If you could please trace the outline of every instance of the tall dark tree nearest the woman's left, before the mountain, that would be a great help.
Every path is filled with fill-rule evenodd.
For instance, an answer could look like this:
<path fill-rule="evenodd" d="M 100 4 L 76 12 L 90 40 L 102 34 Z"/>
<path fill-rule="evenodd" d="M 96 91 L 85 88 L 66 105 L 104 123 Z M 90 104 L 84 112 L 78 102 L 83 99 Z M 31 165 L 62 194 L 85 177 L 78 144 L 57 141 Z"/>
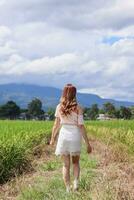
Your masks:
<path fill-rule="evenodd" d="M 40 99 L 35 98 L 28 104 L 28 114 L 39 117 L 44 111 L 42 110 L 42 102 Z"/>

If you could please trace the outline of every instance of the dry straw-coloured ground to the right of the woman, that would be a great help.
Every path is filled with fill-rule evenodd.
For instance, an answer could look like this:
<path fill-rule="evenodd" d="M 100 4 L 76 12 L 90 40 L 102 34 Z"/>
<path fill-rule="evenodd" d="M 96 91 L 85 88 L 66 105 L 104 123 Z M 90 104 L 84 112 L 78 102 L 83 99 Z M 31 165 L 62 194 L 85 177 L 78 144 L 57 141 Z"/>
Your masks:
<path fill-rule="evenodd" d="M 134 200 L 134 163 L 128 156 L 98 140 L 92 140 L 93 155 L 99 160 L 92 185 L 93 200 Z"/>

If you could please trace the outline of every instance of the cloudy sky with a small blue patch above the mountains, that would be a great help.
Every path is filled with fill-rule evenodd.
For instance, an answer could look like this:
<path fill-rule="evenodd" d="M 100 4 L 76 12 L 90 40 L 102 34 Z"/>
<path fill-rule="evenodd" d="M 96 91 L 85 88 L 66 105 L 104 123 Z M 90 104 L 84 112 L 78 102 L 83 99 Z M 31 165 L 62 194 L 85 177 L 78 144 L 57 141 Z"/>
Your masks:
<path fill-rule="evenodd" d="M 133 0 L 0 0 L 0 84 L 134 102 Z"/>

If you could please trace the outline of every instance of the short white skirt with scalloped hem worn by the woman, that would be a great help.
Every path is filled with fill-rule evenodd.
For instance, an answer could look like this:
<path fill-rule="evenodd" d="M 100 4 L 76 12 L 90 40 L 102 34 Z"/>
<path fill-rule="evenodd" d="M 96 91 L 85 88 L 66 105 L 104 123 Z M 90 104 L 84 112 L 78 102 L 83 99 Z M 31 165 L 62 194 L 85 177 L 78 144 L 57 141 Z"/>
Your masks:
<path fill-rule="evenodd" d="M 76 125 L 63 124 L 59 131 L 56 155 L 80 155 L 82 134 Z"/>

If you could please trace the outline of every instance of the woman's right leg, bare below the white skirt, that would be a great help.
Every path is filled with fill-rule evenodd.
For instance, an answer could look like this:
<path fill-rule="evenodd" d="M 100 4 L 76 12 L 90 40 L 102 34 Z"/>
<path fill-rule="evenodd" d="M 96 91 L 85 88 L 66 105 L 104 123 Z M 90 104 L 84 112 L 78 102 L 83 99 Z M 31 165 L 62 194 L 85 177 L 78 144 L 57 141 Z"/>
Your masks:
<path fill-rule="evenodd" d="M 80 175 L 80 156 L 72 156 L 72 163 L 73 163 L 73 174 L 74 174 L 74 190 L 78 188 L 78 180 Z"/>

